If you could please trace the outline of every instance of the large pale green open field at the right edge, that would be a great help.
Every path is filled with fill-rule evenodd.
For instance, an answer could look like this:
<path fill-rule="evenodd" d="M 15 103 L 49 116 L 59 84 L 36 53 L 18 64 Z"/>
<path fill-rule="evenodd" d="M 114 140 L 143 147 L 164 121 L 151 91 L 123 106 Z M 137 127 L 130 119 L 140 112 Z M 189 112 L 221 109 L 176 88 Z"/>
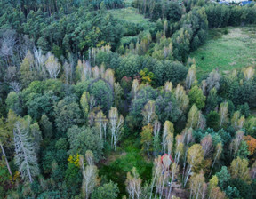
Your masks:
<path fill-rule="evenodd" d="M 202 76 L 219 68 L 228 73 L 234 68 L 256 64 L 256 27 L 219 28 L 209 31 L 204 45 L 190 54 L 196 60 L 197 73 Z"/>

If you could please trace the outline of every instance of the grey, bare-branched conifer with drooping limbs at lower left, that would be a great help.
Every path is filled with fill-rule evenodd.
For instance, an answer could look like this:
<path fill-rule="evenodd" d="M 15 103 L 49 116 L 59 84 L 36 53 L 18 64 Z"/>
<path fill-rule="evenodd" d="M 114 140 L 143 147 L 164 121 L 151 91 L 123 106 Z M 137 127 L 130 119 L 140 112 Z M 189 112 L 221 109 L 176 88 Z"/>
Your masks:
<path fill-rule="evenodd" d="M 35 144 L 29 136 L 28 127 L 24 123 L 17 122 L 13 129 L 15 156 L 14 163 L 19 167 L 21 177 L 33 182 L 39 175 Z"/>

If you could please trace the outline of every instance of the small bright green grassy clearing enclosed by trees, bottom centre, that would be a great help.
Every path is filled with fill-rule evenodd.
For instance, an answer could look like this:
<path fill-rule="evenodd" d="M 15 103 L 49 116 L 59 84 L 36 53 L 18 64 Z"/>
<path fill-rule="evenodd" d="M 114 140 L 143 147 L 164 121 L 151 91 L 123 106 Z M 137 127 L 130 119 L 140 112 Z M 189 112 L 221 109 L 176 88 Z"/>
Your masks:
<path fill-rule="evenodd" d="M 120 190 L 118 198 L 125 195 L 125 180 L 127 172 L 131 171 L 132 167 L 136 167 L 143 183 L 151 179 L 153 163 L 148 162 L 148 159 L 141 154 L 138 135 L 126 138 L 116 152 L 108 155 L 105 163 L 99 167 L 101 177 L 105 176 L 104 178 L 118 184 Z"/>

